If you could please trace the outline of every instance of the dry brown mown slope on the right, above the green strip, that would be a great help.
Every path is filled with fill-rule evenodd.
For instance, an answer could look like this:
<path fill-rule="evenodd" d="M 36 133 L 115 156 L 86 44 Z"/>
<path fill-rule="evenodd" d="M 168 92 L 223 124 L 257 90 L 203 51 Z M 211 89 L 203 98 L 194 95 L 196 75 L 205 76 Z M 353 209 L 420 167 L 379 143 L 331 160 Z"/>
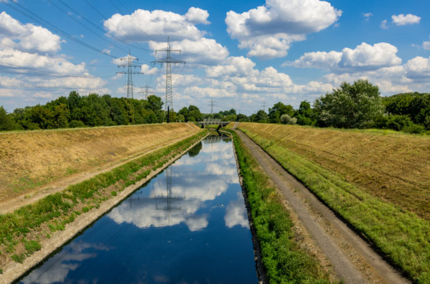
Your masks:
<path fill-rule="evenodd" d="M 368 193 L 430 220 L 429 136 L 264 123 L 239 127 L 251 138 L 258 135 L 288 148 Z"/>

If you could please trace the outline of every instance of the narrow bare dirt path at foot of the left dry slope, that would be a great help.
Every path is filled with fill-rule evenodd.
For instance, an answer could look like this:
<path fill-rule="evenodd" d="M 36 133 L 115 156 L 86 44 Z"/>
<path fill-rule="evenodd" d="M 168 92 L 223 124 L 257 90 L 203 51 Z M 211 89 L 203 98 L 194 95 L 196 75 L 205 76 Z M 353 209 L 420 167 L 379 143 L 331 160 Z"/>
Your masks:
<path fill-rule="evenodd" d="M 191 126 L 189 126 L 189 127 L 191 127 Z M 117 163 L 110 163 L 110 164 L 104 165 L 98 170 L 94 170 L 91 172 L 79 172 L 78 174 L 55 180 L 49 184 L 45 184 L 44 186 L 40 186 L 39 188 L 35 188 L 31 192 L 27 192 L 26 195 L 24 195 L 24 196 L 18 196 L 18 197 L 15 197 L 13 199 L 2 200 L 0 202 L 0 214 L 12 212 L 19 207 L 22 207 L 22 206 L 25 206 L 28 204 L 33 204 L 37 200 L 42 199 L 43 197 L 46 197 L 47 195 L 57 193 L 61 190 L 64 190 L 65 188 L 67 188 L 67 186 L 70 186 L 71 184 L 78 184 L 82 181 L 85 181 L 86 179 L 89 179 L 89 178 L 94 177 L 98 174 L 101 174 L 102 172 L 110 171 L 114 168 L 117 168 L 118 166 L 123 165 L 124 163 L 127 163 L 131 159 L 139 158 L 141 156 L 149 154 L 150 152 L 154 152 L 160 148 L 166 147 L 167 145 L 171 145 L 171 144 L 176 143 L 180 140 L 187 139 L 189 136 L 192 136 L 194 134 L 195 133 L 191 133 L 188 136 L 181 137 L 180 139 L 175 139 L 175 140 L 168 141 L 166 143 L 159 144 L 155 148 L 152 148 L 152 149 L 150 149 L 144 153 L 134 154 L 130 157 L 126 157 L 126 158 L 121 159 L 121 161 L 119 161 Z"/>

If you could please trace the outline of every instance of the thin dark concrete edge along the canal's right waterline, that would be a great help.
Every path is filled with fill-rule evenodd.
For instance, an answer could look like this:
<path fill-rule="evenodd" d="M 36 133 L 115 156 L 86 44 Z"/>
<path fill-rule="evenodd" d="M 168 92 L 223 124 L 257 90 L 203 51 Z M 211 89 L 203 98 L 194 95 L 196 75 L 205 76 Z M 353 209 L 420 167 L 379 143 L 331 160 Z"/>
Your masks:
<path fill-rule="evenodd" d="M 248 221 L 250 222 L 250 230 L 252 234 L 252 244 L 254 247 L 254 260 L 255 260 L 255 268 L 257 270 L 257 277 L 259 280 L 259 284 L 266 284 L 268 283 L 268 279 L 266 276 L 266 270 L 264 269 L 264 265 L 261 262 L 261 245 L 257 239 L 257 233 L 255 232 L 255 227 L 252 223 L 251 208 L 250 208 L 250 204 L 248 203 L 248 194 L 246 193 L 246 188 L 243 186 L 241 166 L 239 165 L 239 159 L 237 158 L 236 148 L 234 147 L 233 136 L 229 132 L 225 132 L 222 130 L 220 132 L 222 132 L 223 134 L 226 134 L 232 139 L 234 160 L 236 161 L 236 168 L 237 168 L 237 175 L 239 175 L 239 183 L 241 184 L 242 195 L 243 195 L 243 198 L 245 199 L 246 213 L 248 214 Z"/>

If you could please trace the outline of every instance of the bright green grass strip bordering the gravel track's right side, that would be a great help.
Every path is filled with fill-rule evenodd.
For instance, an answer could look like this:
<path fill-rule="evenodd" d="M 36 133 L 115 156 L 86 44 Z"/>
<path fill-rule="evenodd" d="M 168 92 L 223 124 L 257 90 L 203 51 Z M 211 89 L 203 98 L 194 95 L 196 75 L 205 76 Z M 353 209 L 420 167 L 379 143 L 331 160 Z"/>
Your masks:
<path fill-rule="evenodd" d="M 415 283 L 430 283 L 430 223 L 345 181 L 279 141 L 242 128 L 325 204 L 362 233 Z"/>

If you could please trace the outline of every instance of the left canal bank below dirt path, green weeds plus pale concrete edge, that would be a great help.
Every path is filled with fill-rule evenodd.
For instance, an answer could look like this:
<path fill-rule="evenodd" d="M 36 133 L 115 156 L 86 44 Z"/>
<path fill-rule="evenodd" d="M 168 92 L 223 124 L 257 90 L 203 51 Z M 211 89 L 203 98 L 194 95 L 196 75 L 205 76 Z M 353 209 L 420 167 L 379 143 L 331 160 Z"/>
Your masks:
<path fill-rule="evenodd" d="M 14 213 L 0 215 L 0 282 L 15 281 L 207 135 L 206 131 L 198 132 Z"/>

